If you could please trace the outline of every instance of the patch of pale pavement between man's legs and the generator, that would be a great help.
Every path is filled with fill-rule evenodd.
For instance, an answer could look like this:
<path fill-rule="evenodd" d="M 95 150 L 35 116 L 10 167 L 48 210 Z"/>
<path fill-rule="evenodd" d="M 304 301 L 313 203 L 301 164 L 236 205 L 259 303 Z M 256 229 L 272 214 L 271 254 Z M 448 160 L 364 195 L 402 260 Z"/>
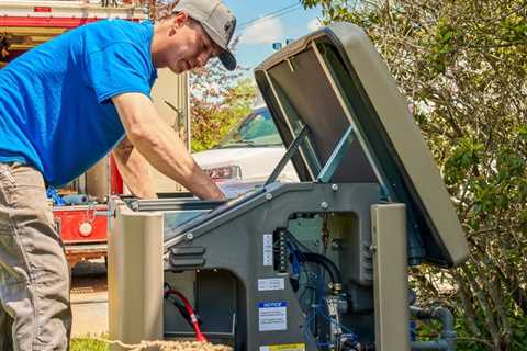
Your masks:
<path fill-rule="evenodd" d="M 104 261 L 77 263 L 71 279 L 71 337 L 108 333 L 108 285 Z"/>

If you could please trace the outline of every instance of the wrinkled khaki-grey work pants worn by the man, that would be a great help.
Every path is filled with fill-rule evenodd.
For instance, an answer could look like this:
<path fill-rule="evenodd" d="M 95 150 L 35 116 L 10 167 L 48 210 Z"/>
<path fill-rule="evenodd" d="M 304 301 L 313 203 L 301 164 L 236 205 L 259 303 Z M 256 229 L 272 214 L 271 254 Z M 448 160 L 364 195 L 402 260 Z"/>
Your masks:
<path fill-rule="evenodd" d="M 42 174 L 0 163 L 0 351 L 69 350 L 69 287 Z"/>

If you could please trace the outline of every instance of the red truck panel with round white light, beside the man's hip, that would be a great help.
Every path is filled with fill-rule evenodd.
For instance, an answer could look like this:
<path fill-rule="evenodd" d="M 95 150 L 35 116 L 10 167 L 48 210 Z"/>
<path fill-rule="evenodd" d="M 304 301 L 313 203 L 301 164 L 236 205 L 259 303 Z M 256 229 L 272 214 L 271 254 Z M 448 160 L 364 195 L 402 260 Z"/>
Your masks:
<path fill-rule="evenodd" d="M 104 242 L 108 239 L 106 205 L 54 207 L 53 216 L 65 244 Z"/>

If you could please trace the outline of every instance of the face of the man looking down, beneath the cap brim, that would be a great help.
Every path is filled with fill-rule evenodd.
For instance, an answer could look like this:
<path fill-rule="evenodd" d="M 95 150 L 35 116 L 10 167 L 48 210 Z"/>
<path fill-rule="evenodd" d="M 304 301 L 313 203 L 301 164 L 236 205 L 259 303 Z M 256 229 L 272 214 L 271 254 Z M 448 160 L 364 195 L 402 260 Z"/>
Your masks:
<path fill-rule="evenodd" d="M 168 39 L 166 60 L 170 70 L 181 73 L 197 67 L 203 67 L 206 61 L 220 54 L 220 48 L 214 44 L 203 27 L 190 19 L 173 30 L 173 35 Z"/>

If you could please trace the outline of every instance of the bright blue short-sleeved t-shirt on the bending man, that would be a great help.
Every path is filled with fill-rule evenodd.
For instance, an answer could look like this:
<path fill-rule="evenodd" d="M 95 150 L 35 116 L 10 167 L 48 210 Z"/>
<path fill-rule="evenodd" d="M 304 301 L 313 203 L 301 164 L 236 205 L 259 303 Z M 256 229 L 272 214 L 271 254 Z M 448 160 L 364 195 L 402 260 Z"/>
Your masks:
<path fill-rule="evenodd" d="M 147 97 L 157 78 L 152 22 L 83 25 L 25 53 L 0 70 L 0 162 L 38 169 L 65 184 L 124 136 L 111 98 Z"/>

